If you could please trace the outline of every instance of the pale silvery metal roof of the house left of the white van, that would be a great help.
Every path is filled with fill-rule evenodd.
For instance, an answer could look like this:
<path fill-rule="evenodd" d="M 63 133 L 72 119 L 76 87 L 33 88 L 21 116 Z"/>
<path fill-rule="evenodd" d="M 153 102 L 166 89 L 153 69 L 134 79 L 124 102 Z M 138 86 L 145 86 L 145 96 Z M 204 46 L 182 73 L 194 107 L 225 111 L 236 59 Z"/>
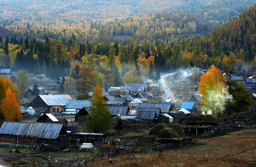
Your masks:
<path fill-rule="evenodd" d="M 68 100 L 63 96 L 55 95 L 38 95 L 46 103 L 46 105 L 66 105 Z"/>

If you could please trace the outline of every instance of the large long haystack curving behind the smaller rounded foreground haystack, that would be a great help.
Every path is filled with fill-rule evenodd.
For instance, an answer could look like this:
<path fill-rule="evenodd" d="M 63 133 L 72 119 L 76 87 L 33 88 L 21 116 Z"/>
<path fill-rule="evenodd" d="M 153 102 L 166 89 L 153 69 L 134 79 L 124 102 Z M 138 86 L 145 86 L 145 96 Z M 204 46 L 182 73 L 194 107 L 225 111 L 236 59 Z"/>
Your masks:
<path fill-rule="evenodd" d="M 161 123 L 156 126 L 154 126 L 148 133 L 149 136 L 156 136 L 159 134 L 160 131 L 166 128 L 172 128 L 174 129 L 180 137 L 184 137 L 185 132 L 180 124 L 166 124 L 166 123 Z"/>

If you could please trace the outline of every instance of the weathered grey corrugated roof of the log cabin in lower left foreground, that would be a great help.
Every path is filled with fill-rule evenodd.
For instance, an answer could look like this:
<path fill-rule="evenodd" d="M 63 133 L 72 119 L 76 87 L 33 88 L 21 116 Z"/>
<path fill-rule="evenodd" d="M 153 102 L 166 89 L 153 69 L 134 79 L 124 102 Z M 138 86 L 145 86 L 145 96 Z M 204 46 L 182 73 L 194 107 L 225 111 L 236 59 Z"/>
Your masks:
<path fill-rule="evenodd" d="M 58 123 L 4 122 L 0 128 L 0 134 L 56 139 L 62 127 L 64 125 Z"/>

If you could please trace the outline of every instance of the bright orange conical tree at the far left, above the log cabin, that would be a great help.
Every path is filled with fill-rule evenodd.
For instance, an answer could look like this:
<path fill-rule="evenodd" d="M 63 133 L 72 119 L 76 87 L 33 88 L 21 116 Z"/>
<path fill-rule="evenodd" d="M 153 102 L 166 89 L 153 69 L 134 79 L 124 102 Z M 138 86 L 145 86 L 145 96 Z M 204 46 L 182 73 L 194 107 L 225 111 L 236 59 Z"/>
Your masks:
<path fill-rule="evenodd" d="M 4 121 L 22 121 L 20 105 L 16 101 L 15 93 L 12 93 L 10 88 L 6 91 L 6 97 L 1 101 L 1 110 L 3 112 Z"/>

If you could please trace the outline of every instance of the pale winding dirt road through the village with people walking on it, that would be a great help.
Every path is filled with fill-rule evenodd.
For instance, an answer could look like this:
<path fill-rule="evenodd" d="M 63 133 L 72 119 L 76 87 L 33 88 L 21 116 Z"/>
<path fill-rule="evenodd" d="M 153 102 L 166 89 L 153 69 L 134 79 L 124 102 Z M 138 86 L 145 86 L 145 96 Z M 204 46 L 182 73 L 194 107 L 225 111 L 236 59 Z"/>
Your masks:
<path fill-rule="evenodd" d="M 164 94 L 162 96 L 162 99 L 165 100 L 166 98 L 173 98 L 174 97 L 174 93 L 171 91 L 171 87 L 169 88 L 169 86 L 171 85 L 166 85 L 165 80 L 166 77 L 169 77 L 169 75 L 174 75 L 174 73 L 168 73 L 168 74 L 163 74 L 161 75 L 160 80 L 158 81 L 160 88 L 164 91 Z M 166 89 L 167 86 L 167 89 Z"/>

